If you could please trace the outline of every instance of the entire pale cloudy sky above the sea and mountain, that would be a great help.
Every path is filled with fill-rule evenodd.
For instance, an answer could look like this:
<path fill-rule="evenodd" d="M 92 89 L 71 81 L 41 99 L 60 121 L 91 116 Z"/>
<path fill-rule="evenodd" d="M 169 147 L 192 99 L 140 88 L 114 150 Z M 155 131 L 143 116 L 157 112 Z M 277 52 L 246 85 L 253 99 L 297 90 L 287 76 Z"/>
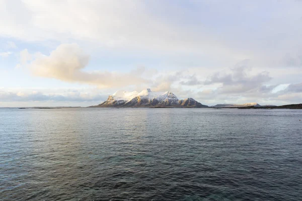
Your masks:
<path fill-rule="evenodd" d="M 0 0 L 0 107 L 92 106 L 117 90 L 302 103 L 300 0 Z"/>

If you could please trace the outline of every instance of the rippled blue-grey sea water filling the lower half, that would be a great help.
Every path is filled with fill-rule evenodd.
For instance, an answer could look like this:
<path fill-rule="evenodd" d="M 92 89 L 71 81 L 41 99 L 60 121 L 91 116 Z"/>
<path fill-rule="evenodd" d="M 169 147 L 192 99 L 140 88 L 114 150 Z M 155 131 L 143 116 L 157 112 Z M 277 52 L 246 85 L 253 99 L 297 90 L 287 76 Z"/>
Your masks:
<path fill-rule="evenodd" d="M 17 199 L 302 200 L 302 110 L 0 109 Z"/>

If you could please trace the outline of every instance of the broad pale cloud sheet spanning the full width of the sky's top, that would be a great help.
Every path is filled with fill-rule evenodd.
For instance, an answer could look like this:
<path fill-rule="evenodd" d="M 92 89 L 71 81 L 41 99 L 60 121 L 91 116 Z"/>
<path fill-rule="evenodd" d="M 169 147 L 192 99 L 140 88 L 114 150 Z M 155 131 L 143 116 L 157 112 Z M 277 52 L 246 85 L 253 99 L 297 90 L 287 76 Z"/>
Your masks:
<path fill-rule="evenodd" d="M 2 0 L 0 18 L 6 20 L 0 21 L 0 36 L 172 54 L 187 63 L 186 56 L 194 55 L 199 63 L 251 58 L 261 66 L 284 67 L 300 65 L 300 11 L 295 1 Z M 286 54 L 288 61 L 277 59 Z"/>

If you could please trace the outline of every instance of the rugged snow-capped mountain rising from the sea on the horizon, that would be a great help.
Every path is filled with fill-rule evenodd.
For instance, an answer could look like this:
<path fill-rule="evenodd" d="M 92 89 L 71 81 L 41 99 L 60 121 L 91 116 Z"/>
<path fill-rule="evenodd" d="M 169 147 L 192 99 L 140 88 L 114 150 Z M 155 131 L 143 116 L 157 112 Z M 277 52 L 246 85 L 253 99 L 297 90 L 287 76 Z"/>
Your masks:
<path fill-rule="evenodd" d="M 154 92 L 147 88 L 140 92 L 116 91 L 109 95 L 104 103 L 92 107 L 206 108 L 208 106 L 202 105 L 191 97 L 179 100 L 170 91 Z"/>

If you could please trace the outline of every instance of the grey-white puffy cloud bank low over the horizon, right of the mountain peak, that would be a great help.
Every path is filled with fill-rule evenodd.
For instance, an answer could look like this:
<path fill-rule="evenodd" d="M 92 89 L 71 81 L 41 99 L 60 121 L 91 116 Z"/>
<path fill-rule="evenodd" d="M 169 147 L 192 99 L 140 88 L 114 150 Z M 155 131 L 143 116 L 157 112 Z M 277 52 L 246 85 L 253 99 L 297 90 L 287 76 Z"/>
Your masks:
<path fill-rule="evenodd" d="M 181 97 L 191 96 L 206 105 L 246 102 L 278 105 L 283 102 L 278 99 L 281 93 L 273 93 L 280 84 L 270 84 L 273 79 L 270 73 L 253 68 L 248 60 L 237 63 L 233 68 L 221 68 L 207 77 L 202 76 L 206 76 L 202 70 L 192 75 L 181 73 L 176 79 L 181 80 L 179 83 L 183 87 L 176 88 L 172 84 L 170 88 Z M 186 89 L 188 86 L 190 90 Z"/>

